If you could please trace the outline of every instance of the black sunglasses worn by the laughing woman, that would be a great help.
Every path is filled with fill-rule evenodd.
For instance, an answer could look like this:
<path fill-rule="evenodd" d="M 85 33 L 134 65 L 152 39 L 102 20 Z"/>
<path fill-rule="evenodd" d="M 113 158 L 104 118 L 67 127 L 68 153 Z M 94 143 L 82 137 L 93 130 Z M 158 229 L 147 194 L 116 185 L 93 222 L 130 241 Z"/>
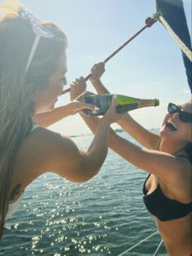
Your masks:
<path fill-rule="evenodd" d="M 168 104 L 168 113 L 173 115 L 175 113 L 179 114 L 179 120 L 182 122 L 191 122 L 192 123 L 192 114 L 182 111 L 176 104 Z"/>

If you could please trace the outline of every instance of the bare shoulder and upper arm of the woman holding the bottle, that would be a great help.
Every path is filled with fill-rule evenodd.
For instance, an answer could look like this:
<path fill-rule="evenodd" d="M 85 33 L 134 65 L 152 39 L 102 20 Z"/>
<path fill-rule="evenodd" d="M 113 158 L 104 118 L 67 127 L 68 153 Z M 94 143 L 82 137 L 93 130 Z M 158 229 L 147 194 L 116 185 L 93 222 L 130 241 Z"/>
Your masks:
<path fill-rule="evenodd" d="M 24 188 L 46 172 L 71 179 L 70 171 L 80 164 L 81 152 L 72 139 L 39 127 L 21 144 L 15 157 L 13 178 Z"/>

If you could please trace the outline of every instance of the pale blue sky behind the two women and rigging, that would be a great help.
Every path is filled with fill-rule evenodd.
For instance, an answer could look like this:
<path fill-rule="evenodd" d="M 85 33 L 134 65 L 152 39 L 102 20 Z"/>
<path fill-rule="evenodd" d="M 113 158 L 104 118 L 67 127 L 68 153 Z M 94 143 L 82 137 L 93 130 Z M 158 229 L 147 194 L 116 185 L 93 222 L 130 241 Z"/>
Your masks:
<path fill-rule="evenodd" d="M 154 0 L 23 0 L 40 20 L 51 20 L 68 36 L 68 85 L 86 76 L 93 64 L 104 60 L 133 36 L 155 13 Z M 191 31 L 191 1 L 184 0 Z M 146 128 L 159 127 L 168 102 L 190 99 L 181 52 L 159 22 L 146 29 L 106 64 L 103 83 L 111 93 L 160 100 L 158 108 L 131 113 Z M 88 82 L 88 90 L 93 86 Z M 59 99 L 67 104 L 69 95 Z M 89 132 L 81 118 L 67 117 L 51 126 L 74 135 Z"/>

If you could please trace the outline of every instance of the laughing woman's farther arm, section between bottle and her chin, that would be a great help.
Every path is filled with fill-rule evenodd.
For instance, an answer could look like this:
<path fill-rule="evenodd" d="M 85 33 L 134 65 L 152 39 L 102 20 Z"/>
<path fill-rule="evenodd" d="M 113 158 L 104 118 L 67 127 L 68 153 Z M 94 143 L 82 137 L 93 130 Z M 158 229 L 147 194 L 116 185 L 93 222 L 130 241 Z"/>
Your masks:
<path fill-rule="evenodd" d="M 149 149 L 159 150 L 160 137 L 155 135 L 149 130 L 146 130 L 143 126 L 139 125 L 128 113 L 118 121 L 118 124 L 129 135 L 136 139 L 138 143 L 141 143 L 144 147 Z"/>

